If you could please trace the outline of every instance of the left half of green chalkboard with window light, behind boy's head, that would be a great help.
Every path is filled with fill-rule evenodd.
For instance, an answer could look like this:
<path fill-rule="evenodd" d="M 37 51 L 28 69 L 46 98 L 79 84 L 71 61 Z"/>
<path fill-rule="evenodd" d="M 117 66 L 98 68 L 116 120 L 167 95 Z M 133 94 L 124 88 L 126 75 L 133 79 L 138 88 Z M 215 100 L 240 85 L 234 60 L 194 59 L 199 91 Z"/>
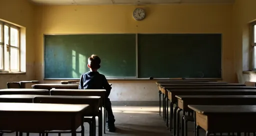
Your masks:
<path fill-rule="evenodd" d="M 44 35 L 44 78 L 79 78 L 91 54 L 107 78 L 136 77 L 135 34 Z"/>

